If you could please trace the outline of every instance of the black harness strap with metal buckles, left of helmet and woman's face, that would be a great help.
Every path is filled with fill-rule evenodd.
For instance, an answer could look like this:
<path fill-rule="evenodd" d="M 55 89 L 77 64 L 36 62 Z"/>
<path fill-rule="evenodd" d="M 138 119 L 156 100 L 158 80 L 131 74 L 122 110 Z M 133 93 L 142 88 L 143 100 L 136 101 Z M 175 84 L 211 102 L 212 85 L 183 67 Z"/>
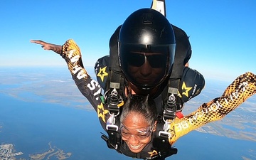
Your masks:
<path fill-rule="evenodd" d="M 106 126 L 107 134 L 102 135 L 102 139 L 107 142 L 110 149 L 115 149 L 120 153 L 121 135 L 119 134 L 118 116 L 122 112 L 124 100 L 122 98 L 124 92 L 124 76 L 118 61 L 118 36 L 121 26 L 119 26 L 110 38 L 110 65 L 109 75 L 107 76 L 107 84 L 105 91 L 105 101 L 111 114 L 110 122 Z M 116 119 L 117 118 L 117 119 Z"/>

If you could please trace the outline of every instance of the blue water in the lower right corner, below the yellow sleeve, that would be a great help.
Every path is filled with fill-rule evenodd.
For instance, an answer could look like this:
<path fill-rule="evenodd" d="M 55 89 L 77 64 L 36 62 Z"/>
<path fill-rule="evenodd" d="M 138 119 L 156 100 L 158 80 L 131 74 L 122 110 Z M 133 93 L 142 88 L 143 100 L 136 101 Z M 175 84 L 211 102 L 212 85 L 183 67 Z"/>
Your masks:
<path fill-rule="evenodd" d="M 256 159 L 255 144 L 252 141 L 193 131 L 178 139 L 175 144 L 178 154 L 169 159 Z"/>

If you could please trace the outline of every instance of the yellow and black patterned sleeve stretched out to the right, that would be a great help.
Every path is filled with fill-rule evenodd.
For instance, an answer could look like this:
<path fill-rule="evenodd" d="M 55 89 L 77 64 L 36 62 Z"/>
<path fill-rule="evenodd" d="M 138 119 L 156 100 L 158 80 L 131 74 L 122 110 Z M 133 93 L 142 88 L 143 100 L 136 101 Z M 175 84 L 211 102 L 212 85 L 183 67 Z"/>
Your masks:
<path fill-rule="evenodd" d="M 255 93 L 256 75 L 250 72 L 240 75 L 227 87 L 221 97 L 204 103 L 196 112 L 186 117 L 181 119 L 176 117 L 174 122 L 169 124 L 169 132 L 172 136 L 169 139 L 170 144 L 174 144 L 178 138 L 204 124 L 222 119 Z"/>

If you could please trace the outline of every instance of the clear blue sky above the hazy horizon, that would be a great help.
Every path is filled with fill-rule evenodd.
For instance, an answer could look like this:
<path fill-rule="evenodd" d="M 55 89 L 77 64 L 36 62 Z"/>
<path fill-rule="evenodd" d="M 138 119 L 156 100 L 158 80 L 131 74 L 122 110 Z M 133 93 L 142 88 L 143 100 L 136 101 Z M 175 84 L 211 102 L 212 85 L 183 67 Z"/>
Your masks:
<path fill-rule="evenodd" d="M 133 11 L 151 0 L 1 0 L 0 66 L 63 65 L 65 61 L 41 46 L 41 39 L 62 45 L 73 38 L 85 66 L 109 53 L 114 30 Z M 256 73 L 255 0 L 166 0 L 170 23 L 190 36 L 190 67 L 206 78 L 233 80 Z"/>

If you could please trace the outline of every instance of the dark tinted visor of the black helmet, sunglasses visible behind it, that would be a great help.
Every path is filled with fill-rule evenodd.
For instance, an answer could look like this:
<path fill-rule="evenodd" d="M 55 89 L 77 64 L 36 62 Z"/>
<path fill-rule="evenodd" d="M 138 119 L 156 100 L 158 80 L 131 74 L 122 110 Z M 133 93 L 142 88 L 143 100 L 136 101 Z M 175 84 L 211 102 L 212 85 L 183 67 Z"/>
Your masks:
<path fill-rule="evenodd" d="M 159 85 L 168 74 L 170 52 L 174 47 L 175 45 L 120 44 L 120 64 L 127 80 L 143 89 Z"/>

